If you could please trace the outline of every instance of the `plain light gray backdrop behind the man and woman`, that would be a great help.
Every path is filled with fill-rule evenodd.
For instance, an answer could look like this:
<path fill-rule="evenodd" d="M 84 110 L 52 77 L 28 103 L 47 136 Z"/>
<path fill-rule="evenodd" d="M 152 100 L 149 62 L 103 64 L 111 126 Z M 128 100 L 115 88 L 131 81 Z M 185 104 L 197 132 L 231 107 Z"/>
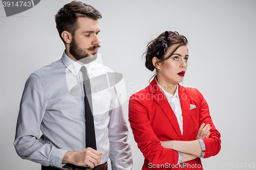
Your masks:
<path fill-rule="evenodd" d="M 5 16 L 0 5 L 1 169 L 40 169 L 39 164 L 22 160 L 15 152 L 16 119 L 29 75 L 58 60 L 65 49 L 54 15 L 69 2 L 44 0 L 11 17 Z M 203 159 L 204 169 L 252 168 L 256 163 L 256 1 L 83 2 L 103 16 L 99 20 L 99 53 L 104 65 L 123 74 L 128 98 L 147 86 L 154 75 L 141 59 L 146 42 L 166 30 L 185 35 L 189 41 L 189 66 L 183 84 L 202 92 L 222 135 L 220 153 Z M 127 105 L 126 100 L 126 120 Z M 141 169 L 143 156 L 129 130 L 134 169 Z"/>

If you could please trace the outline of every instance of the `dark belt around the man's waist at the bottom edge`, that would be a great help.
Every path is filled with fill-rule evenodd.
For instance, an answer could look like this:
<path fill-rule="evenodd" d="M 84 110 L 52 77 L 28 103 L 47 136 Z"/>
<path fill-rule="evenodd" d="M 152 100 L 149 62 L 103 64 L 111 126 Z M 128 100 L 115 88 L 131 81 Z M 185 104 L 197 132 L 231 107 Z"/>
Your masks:
<path fill-rule="evenodd" d="M 43 168 L 45 167 L 45 168 Z M 46 168 L 47 166 L 42 166 L 42 169 L 47 169 Z M 105 162 L 101 165 L 98 165 L 99 169 L 100 170 L 105 170 L 107 167 L 108 167 L 108 163 Z M 51 169 L 56 169 L 56 170 L 59 170 L 59 169 L 63 169 L 63 170 L 83 170 L 83 169 L 86 169 L 86 170 L 98 170 L 97 167 L 94 167 L 94 168 L 90 168 L 89 166 L 88 167 L 85 167 L 85 166 L 76 166 L 74 164 L 71 164 L 71 163 L 67 163 L 66 165 L 64 165 L 63 167 L 56 167 L 56 166 L 50 166 Z"/>

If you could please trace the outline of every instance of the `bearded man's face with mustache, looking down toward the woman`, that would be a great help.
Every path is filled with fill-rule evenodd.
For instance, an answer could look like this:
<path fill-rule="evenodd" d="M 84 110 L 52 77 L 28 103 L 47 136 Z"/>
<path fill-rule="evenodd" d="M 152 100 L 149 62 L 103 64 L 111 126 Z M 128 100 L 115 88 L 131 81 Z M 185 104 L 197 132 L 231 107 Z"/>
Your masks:
<path fill-rule="evenodd" d="M 77 23 L 78 29 L 72 37 L 69 52 L 76 60 L 88 59 L 83 62 L 92 62 L 97 58 L 96 54 L 100 47 L 98 20 L 79 17 Z"/>

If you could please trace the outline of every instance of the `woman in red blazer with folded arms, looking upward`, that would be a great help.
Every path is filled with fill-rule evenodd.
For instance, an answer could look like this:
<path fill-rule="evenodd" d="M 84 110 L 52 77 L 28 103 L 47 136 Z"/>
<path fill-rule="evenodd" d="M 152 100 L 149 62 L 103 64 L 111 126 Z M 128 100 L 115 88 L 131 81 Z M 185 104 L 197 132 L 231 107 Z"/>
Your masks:
<path fill-rule="evenodd" d="M 156 76 L 129 102 L 129 122 L 145 157 L 142 169 L 203 169 L 200 157 L 221 149 L 203 95 L 179 85 L 187 69 L 186 45 L 186 37 L 170 31 L 147 45 L 145 66 L 156 69 Z"/>

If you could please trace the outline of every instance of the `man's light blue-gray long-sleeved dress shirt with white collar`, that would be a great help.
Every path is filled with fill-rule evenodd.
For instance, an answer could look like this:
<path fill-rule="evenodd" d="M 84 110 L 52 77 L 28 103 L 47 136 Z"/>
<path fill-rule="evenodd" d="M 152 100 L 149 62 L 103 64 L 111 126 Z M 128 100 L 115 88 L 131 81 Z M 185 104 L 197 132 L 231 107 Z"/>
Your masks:
<path fill-rule="evenodd" d="M 84 64 L 89 78 L 113 72 L 96 62 Z M 62 167 L 68 151 L 86 148 L 81 64 L 65 52 L 62 58 L 33 72 L 28 78 L 17 119 L 14 146 L 17 154 L 45 166 Z M 70 94 L 80 84 L 79 95 Z M 93 87 L 92 87 L 93 88 Z M 101 163 L 111 159 L 112 169 L 132 169 L 128 129 L 118 102 L 118 87 L 92 94 L 97 150 Z M 40 131 L 42 136 L 40 137 Z M 100 163 L 100 164 L 101 164 Z"/>

